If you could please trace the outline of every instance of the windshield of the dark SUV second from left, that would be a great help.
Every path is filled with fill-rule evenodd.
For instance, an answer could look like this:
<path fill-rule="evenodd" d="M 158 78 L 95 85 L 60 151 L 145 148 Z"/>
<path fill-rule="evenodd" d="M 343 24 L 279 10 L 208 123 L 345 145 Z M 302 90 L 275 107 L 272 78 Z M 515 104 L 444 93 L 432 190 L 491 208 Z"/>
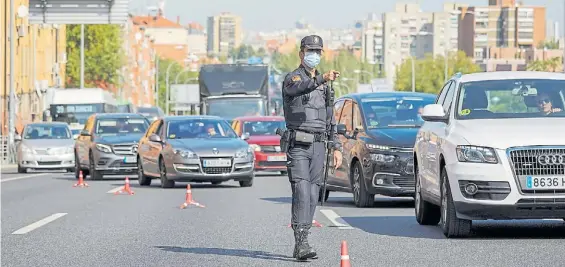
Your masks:
<path fill-rule="evenodd" d="M 148 126 L 143 118 L 103 118 L 96 122 L 96 134 L 141 134 L 145 133 Z"/>

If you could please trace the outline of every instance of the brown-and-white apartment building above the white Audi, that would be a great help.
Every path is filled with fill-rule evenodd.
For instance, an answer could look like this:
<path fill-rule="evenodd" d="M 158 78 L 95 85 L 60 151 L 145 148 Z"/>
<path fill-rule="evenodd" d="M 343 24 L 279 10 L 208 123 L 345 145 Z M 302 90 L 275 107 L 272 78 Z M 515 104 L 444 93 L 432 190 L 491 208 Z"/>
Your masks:
<path fill-rule="evenodd" d="M 459 50 L 475 60 L 486 58 L 490 47 L 529 49 L 546 39 L 545 7 L 490 0 L 459 10 Z"/>

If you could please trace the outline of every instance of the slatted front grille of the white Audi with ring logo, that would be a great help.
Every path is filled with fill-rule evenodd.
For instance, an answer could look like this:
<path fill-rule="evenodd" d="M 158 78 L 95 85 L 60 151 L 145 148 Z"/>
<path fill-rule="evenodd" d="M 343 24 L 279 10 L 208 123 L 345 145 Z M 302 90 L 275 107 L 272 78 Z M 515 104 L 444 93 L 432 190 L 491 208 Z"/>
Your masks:
<path fill-rule="evenodd" d="M 524 193 L 534 194 L 554 194 L 565 193 L 565 190 L 528 190 L 525 189 L 526 176 L 562 176 L 565 175 L 565 164 L 541 164 L 539 156 L 549 155 L 565 157 L 565 148 L 513 148 L 508 150 L 510 164 L 513 167 L 514 175 L 520 184 L 520 190 Z M 565 161 L 565 159 L 563 159 Z M 562 161 L 562 162 L 563 162 Z"/>

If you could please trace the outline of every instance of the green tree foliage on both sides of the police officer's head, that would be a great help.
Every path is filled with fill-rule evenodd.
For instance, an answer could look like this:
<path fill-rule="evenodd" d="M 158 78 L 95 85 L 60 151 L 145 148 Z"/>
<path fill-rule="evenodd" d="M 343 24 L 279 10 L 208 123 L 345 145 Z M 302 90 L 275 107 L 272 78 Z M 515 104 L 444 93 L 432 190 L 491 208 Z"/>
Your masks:
<path fill-rule="evenodd" d="M 300 65 L 299 51 L 300 47 L 297 45 L 294 51 L 288 54 L 278 52 L 273 54 L 272 62 L 276 70 L 282 72 L 283 77 Z M 352 91 L 357 90 L 358 83 L 369 83 L 371 79 L 384 77 L 382 72 L 379 75 L 378 65 L 362 62 L 347 50 L 337 51 L 337 55 L 332 59 L 323 56 L 317 69 L 322 72 L 332 69 L 341 72 L 341 76 L 337 80 L 338 83 L 335 85 L 337 96 L 340 96 L 340 93 L 352 93 Z M 356 72 L 355 70 L 360 71 Z"/>

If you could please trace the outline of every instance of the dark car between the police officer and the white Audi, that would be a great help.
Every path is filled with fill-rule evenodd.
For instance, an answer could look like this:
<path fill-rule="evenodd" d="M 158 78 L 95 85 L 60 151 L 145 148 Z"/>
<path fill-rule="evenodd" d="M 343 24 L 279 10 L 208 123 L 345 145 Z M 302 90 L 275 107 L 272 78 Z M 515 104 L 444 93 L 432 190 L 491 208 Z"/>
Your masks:
<path fill-rule="evenodd" d="M 335 102 L 343 162 L 328 174 L 330 191 L 352 192 L 357 207 L 371 207 L 375 194 L 414 196 L 413 148 L 423 107 L 435 95 L 408 92 L 358 93 Z"/>

